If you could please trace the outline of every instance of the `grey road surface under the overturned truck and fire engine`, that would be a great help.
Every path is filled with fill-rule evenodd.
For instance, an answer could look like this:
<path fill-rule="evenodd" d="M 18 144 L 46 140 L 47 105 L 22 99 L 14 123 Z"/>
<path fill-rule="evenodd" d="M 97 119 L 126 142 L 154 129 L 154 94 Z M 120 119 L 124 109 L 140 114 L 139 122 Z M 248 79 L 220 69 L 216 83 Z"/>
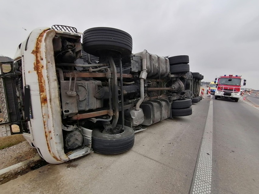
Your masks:
<path fill-rule="evenodd" d="M 126 153 L 46 165 L 0 185 L 1 193 L 258 193 L 259 110 L 207 95 L 192 109 L 137 133 Z"/>

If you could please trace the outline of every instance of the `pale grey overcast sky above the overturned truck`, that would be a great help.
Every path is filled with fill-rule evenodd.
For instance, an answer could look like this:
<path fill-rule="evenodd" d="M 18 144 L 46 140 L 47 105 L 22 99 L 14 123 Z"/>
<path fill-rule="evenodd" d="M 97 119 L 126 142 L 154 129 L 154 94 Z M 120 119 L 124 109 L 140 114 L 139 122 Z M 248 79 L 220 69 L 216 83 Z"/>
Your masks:
<path fill-rule="evenodd" d="M 74 26 L 79 32 L 113 27 L 132 36 L 133 53 L 189 55 L 191 71 L 204 75 L 203 81 L 238 74 L 246 87 L 259 89 L 258 8 L 258 0 L 2 0 L 0 55 L 13 58 L 41 26 Z"/>

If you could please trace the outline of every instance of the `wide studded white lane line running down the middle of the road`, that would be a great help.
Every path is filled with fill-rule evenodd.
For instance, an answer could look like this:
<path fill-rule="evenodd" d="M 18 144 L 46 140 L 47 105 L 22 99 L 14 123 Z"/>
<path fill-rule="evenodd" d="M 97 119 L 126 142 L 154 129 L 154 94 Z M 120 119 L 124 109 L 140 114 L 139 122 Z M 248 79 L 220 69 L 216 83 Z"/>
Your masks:
<path fill-rule="evenodd" d="M 202 145 L 196 164 L 196 174 L 193 186 L 193 194 L 211 193 L 212 173 L 212 123 L 213 122 L 213 100 L 210 98 L 209 112 L 205 124 Z"/>

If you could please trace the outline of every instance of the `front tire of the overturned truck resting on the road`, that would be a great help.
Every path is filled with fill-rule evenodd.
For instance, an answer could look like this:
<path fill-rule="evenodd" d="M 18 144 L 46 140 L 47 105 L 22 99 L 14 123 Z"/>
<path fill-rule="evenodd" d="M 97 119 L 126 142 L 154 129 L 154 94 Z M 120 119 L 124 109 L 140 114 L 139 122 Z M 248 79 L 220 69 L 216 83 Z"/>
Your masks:
<path fill-rule="evenodd" d="M 133 147 L 134 139 L 134 130 L 127 126 L 124 126 L 122 133 L 115 135 L 103 134 L 99 130 L 93 130 L 92 148 L 99 154 L 120 154 Z"/>

